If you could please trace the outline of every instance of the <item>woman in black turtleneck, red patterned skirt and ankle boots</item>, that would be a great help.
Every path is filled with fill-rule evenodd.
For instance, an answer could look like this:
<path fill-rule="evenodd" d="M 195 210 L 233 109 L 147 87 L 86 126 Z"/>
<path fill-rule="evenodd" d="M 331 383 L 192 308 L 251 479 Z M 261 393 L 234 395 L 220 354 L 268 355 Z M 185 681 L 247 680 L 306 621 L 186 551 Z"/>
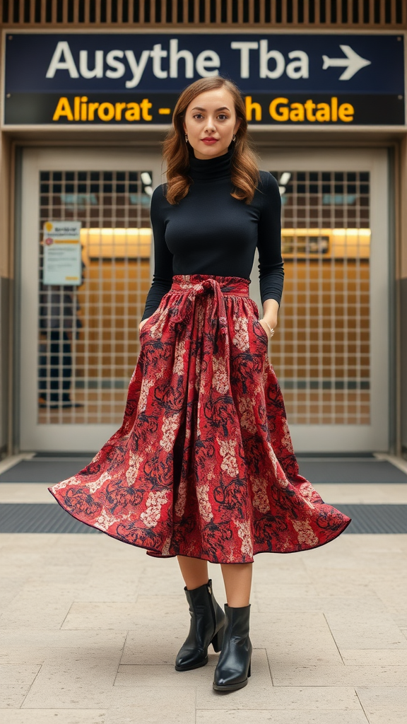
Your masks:
<path fill-rule="evenodd" d="M 155 271 L 122 427 L 87 468 L 50 490 L 65 510 L 148 555 L 177 555 L 190 608 L 178 671 L 220 651 L 214 689 L 251 675 L 253 555 L 314 548 L 350 519 L 298 474 L 267 355 L 283 282 L 280 193 L 248 147 L 238 88 L 185 88 L 154 191 Z M 248 295 L 259 248 L 264 316 Z M 207 562 L 219 563 L 219 607 Z"/>

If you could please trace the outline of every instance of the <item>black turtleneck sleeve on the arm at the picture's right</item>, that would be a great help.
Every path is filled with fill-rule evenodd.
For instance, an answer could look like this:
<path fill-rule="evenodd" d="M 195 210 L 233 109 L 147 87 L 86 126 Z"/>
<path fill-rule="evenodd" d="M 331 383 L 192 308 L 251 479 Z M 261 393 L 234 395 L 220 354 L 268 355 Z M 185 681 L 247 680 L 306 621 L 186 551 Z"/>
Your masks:
<path fill-rule="evenodd" d="M 277 181 L 262 172 L 261 215 L 258 227 L 259 279 L 261 303 L 275 299 L 280 304 L 284 284 L 281 256 L 281 197 Z"/>

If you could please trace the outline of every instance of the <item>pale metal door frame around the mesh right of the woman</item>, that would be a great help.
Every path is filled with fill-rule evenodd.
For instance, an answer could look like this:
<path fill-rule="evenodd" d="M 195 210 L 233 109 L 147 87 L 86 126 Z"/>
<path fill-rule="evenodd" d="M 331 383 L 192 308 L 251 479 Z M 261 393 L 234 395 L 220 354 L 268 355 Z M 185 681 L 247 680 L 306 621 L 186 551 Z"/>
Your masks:
<path fill-rule="evenodd" d="M 370 173 L 370 425 L 288 424 L 295 452 L 387 452 L 390 434 L 390 229 L 386 148 L 261 148 L 261 168 L 274 171 Z M 284 304 L 284 292 L 282 305 Z M 374 323 L 373 323 L 374 320 Z M 271 355 L 272 362 L 272 355 Z M 316 444 L 317 441 L 317 444 Z"/>

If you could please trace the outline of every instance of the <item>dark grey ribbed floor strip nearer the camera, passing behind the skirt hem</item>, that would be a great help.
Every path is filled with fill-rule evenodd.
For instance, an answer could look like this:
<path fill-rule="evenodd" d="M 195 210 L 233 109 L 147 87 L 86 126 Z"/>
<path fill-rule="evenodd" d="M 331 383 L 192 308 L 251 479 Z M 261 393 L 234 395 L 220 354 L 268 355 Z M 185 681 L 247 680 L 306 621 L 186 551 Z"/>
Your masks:
<path fill-rule="evenodd" d="M 344 534 L 407 533 L 407 505 L 332 503 L 352 518 Z M 52 503 L 0 505 L 0 533 L 98 533 Z"/>

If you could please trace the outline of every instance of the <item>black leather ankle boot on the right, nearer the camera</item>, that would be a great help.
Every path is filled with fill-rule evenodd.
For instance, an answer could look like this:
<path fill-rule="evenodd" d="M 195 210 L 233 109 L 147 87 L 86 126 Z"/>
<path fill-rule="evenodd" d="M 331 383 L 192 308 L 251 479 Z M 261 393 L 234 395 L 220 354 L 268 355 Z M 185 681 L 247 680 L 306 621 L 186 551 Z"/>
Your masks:
<path fill-rule="evenodd" d="M 251 675 L 253 647 L 248 636 L 250 604 L 242 608 L 225 605 L 226 626 L 222 652 L 214 675 L 214 689 L 235 691 L 243 689 Z"/>

